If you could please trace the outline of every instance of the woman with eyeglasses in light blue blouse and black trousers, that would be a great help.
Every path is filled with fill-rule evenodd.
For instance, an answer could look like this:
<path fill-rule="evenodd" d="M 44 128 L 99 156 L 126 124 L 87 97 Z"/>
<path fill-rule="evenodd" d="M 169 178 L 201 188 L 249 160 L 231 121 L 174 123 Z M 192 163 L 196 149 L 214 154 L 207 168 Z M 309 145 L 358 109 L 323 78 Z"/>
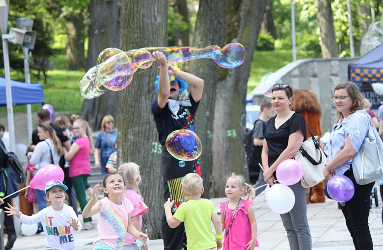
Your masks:
<path fill-rule="evenodd" d="M 364 100 L 354 82 L 343 82 L 334 89 L 332 97 L 338 122 L 332 127 L 325 153 L 328 155 L 323 175 L 329 180 L 333 175 L 349 177 L 355 186 L 351 200 L 341 203 L 347 228 L 356 250 L 372 250 L 373 243 L 368 226 L 371 190 L 375 182 L 356 183 L 353 174 L 353 157 L 360 149 L 370 127 L 370 118 L 363 109 Z"/>

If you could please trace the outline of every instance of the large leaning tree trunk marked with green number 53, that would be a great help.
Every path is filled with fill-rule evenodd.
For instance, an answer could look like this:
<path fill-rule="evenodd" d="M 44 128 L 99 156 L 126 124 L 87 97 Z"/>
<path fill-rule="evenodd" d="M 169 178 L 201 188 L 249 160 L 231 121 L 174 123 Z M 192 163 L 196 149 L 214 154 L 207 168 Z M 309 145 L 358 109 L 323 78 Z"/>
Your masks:
<path fill-rule="evenodd" d="M 211 194 L 224 196 L 222 180 L 230 172 L 242 174 L 248 179 L 245 168 L 243 137 L 246 131 L 245 115 L 247 80 L 253 53 L 261 28 L 267 0 L 230 1 L 225 34 L 226 43 L 239 41 L 246 48 L 246 58 L 234 70 L 220 70 L 217 88 L 214 137 L 213 183 Z"/>

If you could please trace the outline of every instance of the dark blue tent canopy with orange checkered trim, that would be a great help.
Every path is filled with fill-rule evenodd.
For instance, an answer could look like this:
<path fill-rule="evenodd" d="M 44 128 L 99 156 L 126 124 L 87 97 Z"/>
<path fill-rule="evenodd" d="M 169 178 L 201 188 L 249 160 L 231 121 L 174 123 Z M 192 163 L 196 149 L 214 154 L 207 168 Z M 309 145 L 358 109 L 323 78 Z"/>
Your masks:
<path fill-rule="evenodd" d="M 353 82 L 383 82 L 383 44 L 359 57 L 348 67 Z"/>

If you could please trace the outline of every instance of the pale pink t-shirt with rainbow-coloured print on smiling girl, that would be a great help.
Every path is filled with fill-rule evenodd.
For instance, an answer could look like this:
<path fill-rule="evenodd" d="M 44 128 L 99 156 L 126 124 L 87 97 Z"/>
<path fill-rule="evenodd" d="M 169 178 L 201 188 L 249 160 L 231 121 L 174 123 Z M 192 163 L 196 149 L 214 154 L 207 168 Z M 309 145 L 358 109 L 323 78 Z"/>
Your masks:
<path fill-rule="evenodd" d="M 133 210 L 132 203 L 123 198 L 121 205 L 113 203 L 108 197 L 101 201 L 101 209 L 97 222 L 98 237 L 93 242 L 104 242 L 112 249 L 122 249 L 128 230 L 128 216 Z"/>

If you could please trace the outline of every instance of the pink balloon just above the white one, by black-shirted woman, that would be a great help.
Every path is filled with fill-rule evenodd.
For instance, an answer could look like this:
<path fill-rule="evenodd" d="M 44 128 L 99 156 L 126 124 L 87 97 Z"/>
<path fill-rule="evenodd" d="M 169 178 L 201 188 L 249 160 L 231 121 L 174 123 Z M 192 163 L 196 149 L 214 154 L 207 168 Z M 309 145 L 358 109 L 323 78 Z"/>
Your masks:
<path fill-rule="evenodd" d="M 301 164 L 294 159 L 282 161 L 276 168 L 276 179 L 283 185 L 294 185 L 301 180 L 303 168 Z"/>

